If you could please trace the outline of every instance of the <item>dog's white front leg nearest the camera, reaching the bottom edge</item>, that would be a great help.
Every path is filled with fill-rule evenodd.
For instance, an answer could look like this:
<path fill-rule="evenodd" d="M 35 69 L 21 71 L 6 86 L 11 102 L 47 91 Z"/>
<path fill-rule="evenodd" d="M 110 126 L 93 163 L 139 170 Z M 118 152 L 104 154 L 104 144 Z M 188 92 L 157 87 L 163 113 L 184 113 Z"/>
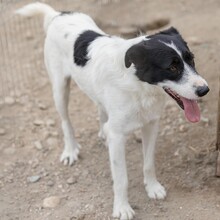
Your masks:
<path fill-rule="evenodd" d="M 125 136 L 112 132 L 105 126 L 114 189 L 113 217 L 121 220 L 133 219 L 134 211 L 128 203 L 128 177 L 125 161 Z"/>

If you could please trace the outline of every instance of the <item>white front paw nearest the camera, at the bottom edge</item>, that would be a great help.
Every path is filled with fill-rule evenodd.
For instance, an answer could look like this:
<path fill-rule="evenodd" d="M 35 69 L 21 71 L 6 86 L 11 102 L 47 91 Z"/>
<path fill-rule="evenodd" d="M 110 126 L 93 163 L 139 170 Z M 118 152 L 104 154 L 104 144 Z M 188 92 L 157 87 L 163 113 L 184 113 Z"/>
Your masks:
<path fill-rule="evenodd" d="M 134 215 L 135 212 L 129 204 L 117 206 L 114 208 L 114 212 L 113 212 L 113 218 L 120 220 L 133 219 Z"/>

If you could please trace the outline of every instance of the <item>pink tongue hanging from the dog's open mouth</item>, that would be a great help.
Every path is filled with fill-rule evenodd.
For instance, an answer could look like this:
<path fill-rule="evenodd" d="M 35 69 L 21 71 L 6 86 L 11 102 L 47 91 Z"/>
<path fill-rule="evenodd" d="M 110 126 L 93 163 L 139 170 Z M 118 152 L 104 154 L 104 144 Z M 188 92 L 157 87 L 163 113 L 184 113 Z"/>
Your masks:
<path fill-rule="evenodd" d="M 200 121 L 200 111 L 197 102 L 183 97 L 181 97 L 181 100 L 184 105 L 186 118 L 193 123 Z"/>

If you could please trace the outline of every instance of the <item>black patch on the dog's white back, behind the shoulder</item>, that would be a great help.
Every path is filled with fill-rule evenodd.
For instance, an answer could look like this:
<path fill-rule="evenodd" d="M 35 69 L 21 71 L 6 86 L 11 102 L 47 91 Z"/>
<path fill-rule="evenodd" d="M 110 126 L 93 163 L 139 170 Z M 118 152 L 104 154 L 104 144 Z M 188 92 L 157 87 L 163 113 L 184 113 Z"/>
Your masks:
<path fill-rule="evenodd" d="M 87 57 L 88 54 L 88 47 L 89 45 L 98 37 L 103 35 L 96 33 L 94 31 L 85 31 L 79 35 L 76 39 L 74 44 L 74 62 L 78 66 L 85 66 L 89 58 Z"/>

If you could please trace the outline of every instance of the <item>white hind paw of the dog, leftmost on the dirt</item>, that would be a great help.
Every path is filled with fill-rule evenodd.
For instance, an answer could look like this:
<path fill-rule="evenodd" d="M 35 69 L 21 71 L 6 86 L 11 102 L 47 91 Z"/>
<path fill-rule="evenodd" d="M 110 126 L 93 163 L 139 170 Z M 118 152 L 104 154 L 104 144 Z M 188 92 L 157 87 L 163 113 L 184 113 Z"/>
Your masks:
<path fill-rule="evenodd" d="M 64 149 L 63 153 L 60 156 L 60 162 L 66 165 L 73 165 L 73 163 L 78 160 L 79 155 L 79 147 L 77 148 L 71 148 L 71 149 Z"/>

